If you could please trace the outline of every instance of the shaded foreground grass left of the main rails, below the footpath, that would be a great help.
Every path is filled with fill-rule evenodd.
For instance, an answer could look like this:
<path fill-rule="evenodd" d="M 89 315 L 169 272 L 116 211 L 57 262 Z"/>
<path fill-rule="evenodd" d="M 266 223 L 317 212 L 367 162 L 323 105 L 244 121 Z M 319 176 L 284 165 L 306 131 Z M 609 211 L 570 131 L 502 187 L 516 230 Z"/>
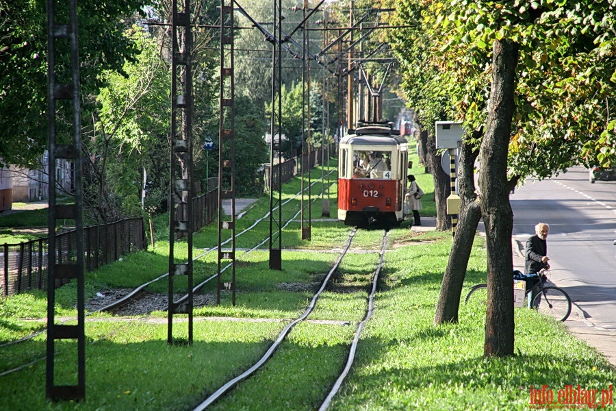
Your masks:
<path fill-rule="evenodd" d="M 186 410 L 201 398 L 203 390 L 214 390 L 238 370 L 251 366 L 280 327 L 280 323 L 254 323 L 247 329 L 246 323 L 201 322 L 195 327 L 192 347 L 169 347 L 166 325 L 92 323 L 86 327 L 87 401 L 48 403 L 44 399 L 45 365 L 38 362 L 11 374 L 10 384 L 0 384 L 3 408 Z M 39 345 L 44 355 L 44 343 Z M 74 384 L 70 370 L 75 350 L 70 345 L 58 344 L 56 384 Z M 169 364 L 175 364 L 174 369 Z"/>

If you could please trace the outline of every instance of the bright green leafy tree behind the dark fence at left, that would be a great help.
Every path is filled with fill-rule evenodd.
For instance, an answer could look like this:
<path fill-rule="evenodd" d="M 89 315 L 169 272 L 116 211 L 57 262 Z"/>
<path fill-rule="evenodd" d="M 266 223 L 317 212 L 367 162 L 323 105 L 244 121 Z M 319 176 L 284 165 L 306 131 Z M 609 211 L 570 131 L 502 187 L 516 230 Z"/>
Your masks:
<path fill-rule="evenodd" d="M 97 97 L 84 144 L 86 210 L 99 223 L 139 213 L 143 173 L 149 210 L 164 211 L 167 197 L 170 74 L 157 39 L 138 26 L 126 36 L 141 52 L 125 75 L 105 73 L 109 86 Z"/>

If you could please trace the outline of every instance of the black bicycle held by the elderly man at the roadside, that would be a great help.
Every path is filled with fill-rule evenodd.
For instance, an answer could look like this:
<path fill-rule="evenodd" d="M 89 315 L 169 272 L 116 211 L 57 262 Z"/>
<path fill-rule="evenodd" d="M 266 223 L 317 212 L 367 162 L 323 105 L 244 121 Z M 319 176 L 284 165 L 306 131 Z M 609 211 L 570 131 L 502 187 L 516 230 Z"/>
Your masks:
<path fill-rule="evenodd" d="M 545 285 L 548 279 L 546 272 L 548 271 L 539 273 L 541 281 L 532 286 L 530 290 L 526 290 L 524 298 L 532 297 L 530 308 L 549 315 L 556 321 L 565 321 L 571 314 L 571 298 L 562 288 Z M 471 299 L 478 301 L 477 303 L 487 303 L 487 284 L 472 286 L 464 302 L 468 303 Z"/>

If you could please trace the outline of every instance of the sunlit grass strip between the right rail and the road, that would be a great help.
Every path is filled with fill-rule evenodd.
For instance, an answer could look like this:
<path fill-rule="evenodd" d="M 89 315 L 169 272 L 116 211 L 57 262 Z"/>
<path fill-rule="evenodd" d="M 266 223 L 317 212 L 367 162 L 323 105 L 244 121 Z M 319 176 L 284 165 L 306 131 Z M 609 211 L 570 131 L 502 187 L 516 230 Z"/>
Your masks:
<path fill-rule="evenodd" d="M 450 241 L 387 253 L 389 276 L 334 410 L 527 410 L 530 388 L 608 389 L 616 373 L 594 349 L 541 314 L 515 310 L 511 358 L 483 358 L 485 311 L 461 307 L 458 324 L 433 324 Z M 475 247 L 467 285 L 481 281 Z M 435 258 L 441 254 L 442 258 Z"/>

